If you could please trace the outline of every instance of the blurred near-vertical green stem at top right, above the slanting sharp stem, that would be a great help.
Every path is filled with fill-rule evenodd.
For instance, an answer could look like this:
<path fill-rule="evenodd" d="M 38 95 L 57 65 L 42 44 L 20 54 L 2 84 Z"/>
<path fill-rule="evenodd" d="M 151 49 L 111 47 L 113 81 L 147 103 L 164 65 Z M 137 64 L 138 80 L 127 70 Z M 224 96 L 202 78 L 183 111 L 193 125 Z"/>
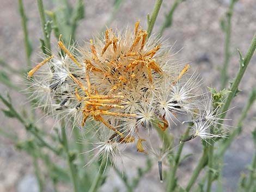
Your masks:
<path fill-rule="evenodd" d="M 231 17 L 233 16 L 233 10 L 234 10 L 234 5 L 236 1 L 237 0 L 231 1 L 228 11 L 226 13 L 227 26 L 225 26 L 225 48 L 224 48 L 225 58 L 224 58 L 223 68 L 221 70 L 221 89 L 224 89 L 228 83 L 227 70 L 228 70 L 228 65 L 230 60 Z"/>

